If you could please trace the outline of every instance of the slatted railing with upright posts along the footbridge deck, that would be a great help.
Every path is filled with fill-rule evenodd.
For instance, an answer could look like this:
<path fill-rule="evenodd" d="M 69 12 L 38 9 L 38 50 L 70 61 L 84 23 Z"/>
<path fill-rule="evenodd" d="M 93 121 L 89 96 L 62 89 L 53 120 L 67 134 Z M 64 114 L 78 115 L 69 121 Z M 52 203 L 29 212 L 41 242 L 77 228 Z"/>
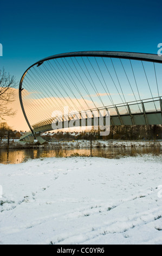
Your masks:
<path fill-rule="evenodd" d="M 36 129 L 41 126 L 51 125 L 53 121 L 57 118 L 59 122 L 72 120 L 74 118 L 93 118 L 96 117 L 99 111 L 109 111 L 111 116 L 114 115 L 131 115 L 131 114 L 139 114 L 139 113 L 148 113 L 148 112 L 162 112 L 162 96 L 154 97 L 145 100 L 138 101 L 130 101 L 126 103 L 120 103 L 111 106 L 99 107 L 87 109 L 85 111 L 74 112 L 66 115 L 60 115 L 58 117 L 49 118 L 46 120 L 42 120 L 36 124 L 33 124 L 33 128 Z"/>

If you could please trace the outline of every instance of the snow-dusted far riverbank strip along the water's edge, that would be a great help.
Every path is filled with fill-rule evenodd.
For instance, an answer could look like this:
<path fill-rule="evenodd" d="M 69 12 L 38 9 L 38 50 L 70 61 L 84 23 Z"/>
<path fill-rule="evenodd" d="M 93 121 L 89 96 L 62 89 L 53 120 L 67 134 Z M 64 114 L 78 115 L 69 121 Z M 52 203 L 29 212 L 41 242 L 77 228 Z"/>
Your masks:
<path fill-rule="evenodd" d="M 162 147 L 162 141 L 92 141 L 92 148 L 137 148 L 137 147 Z M 0 143 L 0 149 L 7 149 L 7 140 Z M 36 143 L 26 143 L 21 141 L 10 141 L 9 149 L 30 149 L 30 148 L 90 148 L 90 141 L 70 141 L 70 142 L 48 142 L 43 145 Z"/>

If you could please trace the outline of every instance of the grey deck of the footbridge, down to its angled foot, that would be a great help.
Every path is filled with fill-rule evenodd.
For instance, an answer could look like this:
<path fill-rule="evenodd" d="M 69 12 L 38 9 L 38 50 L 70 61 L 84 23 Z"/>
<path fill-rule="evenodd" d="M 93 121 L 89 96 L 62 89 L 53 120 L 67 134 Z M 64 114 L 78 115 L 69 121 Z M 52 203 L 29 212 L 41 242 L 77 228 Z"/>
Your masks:
<path fill-rule="evenodd" d="M 109 125 L 160 125 L 162 124 L 162 111 L 161 111 L 161 98 L 158 100 L 159 101 L 159 107 L 158 109 L 156 108 L 156 111 L 148 111 L 148 109 L 145 109 L 145 105 L 143 103 L 142 105 L 142 111 L 137 113 L 132 113 L 131 112 L 131 105 L 127 105 L 126 111 L 127 113 L 124 114 L 120 114 L 120 107 L 125 107 L 125 106 L 115 106 L 115 111 L 118 114 L 115 113 L 111 113 L 109 114 Z M 155 101 L 153 101 L 155 103 Z M 147 102 L 148 103 L 148 102 Z M 139 103 L 137 103 L 139 105 Z M 156 105 L 157 106 L 157 105 Z M 114 108 L 114 107 L 112 107 Z M 111 109 L 111 108 L 107 108 Z M 123 110 L 122 110 L 123 111 Z M 78 113 L 77 113 L 78 114 Z M 76 114 L 76 119 L 73 119 L 73 122 L 75 123 L 74 127 L 82 127 L 82 126 L 88 126 L 89 125 L 89 119 L 87 118 L 77 118 Z M 33 125 L 33 132 L 35 134 L 35 138 L 41 143 L 43 144 L 45 141 L 38 136 L 39 133 L 41 132 L 47 132 L 47 131 L 51 131 L 54 130 L 53 129 L 53 121 L 56 122 L 55 120 L 56 118 L 51 118 L 51 119 L 47 119 L 47 120 L 43 120 L 40 123 L 37 123 L 35 125 Z M 70 124 L 70 121 L 72 119 L 64 116 L 58 117 L 57 118 L 57 126 L 59 127 L 58 129 L 60 129 L 60 125 L 61 124 L 61 129 L 63 129 L 64 127 L 72 127 L 72 125 Z M 95 119 L 96 120 L 96 119 Z M 76 121 L 76 122 L 75 122 Z M 96 123 L 94 124 L 94 116 L 92 116 L 92 118 L 90 119 L 91 121 L 91 125 L 94 126 L 96 125 Z M 71 122 L 72 123 L 72 122 Z M 83 125 L 84 124 L 84 125 Z M 98 118 L 98 125 L 99 125 L 99 118 Z M 106 117 L 103 117 L 103 124 L 106 124 Z M 56 128 L 57 129 L 57 128 Z M 33 137 L 33 139 L 31 138 Z M 23 135 L 20 140 L 24 140 L 24 141 L 32 141 L 34 140 L 34 136 L 33 133 L 29 132 L 29 133 L 25 133 L 25 135 Z"/>

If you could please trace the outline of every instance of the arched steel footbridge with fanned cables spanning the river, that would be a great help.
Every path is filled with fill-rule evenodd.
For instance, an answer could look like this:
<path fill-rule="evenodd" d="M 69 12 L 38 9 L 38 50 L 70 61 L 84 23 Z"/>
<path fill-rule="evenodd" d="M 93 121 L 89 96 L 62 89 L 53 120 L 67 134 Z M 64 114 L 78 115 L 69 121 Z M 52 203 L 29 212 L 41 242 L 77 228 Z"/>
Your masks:
<path fill-rule="evenodd" d="M 30 128 L 21 139 L 35 137 L 42 144 L 40 133 L 54 130 L 53 123 L 64 128 L 79 120 L 76 127 L 84 119 L 88 126 L 91 118 L 93 126 L 95 115 L 105 110 L 110 125 L 162 124 L 161 83 L 162 57 L 156 54 L 87 51 L 41 59 L 20 81 L 20 103 Z"/>

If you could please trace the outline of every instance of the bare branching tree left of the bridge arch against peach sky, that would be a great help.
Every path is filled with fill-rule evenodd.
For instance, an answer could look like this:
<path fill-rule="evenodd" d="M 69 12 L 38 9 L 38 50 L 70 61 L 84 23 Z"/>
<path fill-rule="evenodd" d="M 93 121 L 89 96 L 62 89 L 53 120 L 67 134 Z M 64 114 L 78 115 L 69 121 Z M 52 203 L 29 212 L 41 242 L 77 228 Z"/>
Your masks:
<path fill-rule="evenodd" d="M 17 85 L 15 76 L 11 76 L 3 70 L 0 70 L 0 120 L 5 120 L 7 116 L 16 114 L 10 107 L 10 103 L 15 100 L 14 90 Z"/>

